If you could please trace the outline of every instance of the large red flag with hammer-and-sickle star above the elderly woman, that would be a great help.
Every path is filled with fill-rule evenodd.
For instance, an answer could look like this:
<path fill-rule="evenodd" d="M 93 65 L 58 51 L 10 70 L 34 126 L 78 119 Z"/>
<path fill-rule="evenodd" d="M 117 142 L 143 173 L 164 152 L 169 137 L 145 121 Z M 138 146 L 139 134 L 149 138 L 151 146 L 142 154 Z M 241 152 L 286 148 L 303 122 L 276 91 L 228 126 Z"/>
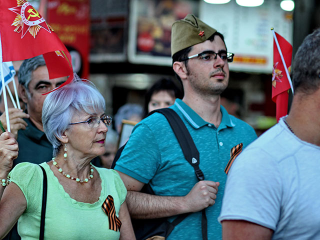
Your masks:
<path fill-rule="evenodd" d="M 0 41 L 2 61 L 23 60 L 43 54 L 50 79 L 69 75 L 62 85 L 72 80 L 68 50 L 28 1 L 1 0 Z"/>

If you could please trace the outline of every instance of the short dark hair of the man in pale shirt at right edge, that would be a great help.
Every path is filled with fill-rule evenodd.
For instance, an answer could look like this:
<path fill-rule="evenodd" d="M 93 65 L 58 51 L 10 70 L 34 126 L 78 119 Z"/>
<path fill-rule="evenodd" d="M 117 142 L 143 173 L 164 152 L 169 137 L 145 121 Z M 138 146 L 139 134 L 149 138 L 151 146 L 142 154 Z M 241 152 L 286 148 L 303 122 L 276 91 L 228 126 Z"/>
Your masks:
<path fill-rule="evenodd" d="M 307 35 L 292 64 L 294 92 L 311 94 L 320 86 L 320 28 Z"/>

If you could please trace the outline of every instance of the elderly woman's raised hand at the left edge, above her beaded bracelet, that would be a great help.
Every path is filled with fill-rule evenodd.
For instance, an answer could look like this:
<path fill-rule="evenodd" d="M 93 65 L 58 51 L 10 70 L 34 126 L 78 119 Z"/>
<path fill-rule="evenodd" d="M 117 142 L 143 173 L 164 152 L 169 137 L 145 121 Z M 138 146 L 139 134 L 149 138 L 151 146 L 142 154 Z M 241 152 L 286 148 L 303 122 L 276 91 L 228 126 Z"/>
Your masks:
<path fill-rule="evenodd" d="M 18 143 L 11 132 L 3 132 L 0 135 L 0 175 L 7 174 L 18 156 Z M 3 174 L 4 173 L 4 174 Z"/>

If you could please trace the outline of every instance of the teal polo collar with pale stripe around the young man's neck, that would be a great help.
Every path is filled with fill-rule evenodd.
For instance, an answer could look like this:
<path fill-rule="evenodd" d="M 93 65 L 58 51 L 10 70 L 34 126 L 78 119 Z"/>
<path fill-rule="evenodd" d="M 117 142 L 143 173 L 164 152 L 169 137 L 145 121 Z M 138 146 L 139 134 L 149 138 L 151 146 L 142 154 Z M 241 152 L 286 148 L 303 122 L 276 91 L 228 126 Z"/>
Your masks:
<path fill-rule="evenodd" d="M 176 98 L 174 105 L 179 109 L 179 111 L 182 113 L 184 118 L 194 128 L 199 128 L 201 126 L 210 124 L 210 122 L 203 120 L 202 117 L 200 117 L 191 107 L 189 107 L 181 99 Z M 231 121 L 228 112 L 225 110 L 225 108 L 222 105 L 220 105 L 220 111 L 222 113 L 222 119 L 218 128 L 235 126 L 235 124 Z"/>

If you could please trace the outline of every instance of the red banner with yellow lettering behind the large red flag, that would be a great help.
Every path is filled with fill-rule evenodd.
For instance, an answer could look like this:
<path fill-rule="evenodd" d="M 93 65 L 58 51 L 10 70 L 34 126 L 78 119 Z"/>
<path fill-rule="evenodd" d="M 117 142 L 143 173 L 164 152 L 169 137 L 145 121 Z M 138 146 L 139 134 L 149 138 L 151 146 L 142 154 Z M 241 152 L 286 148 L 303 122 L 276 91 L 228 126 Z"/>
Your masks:
<path fill-rule="evenodd" d="M 46 18 L 72 58 L 73 71 L 81 78 L 89 73 L 89 0 L 47 0 Z"/>

